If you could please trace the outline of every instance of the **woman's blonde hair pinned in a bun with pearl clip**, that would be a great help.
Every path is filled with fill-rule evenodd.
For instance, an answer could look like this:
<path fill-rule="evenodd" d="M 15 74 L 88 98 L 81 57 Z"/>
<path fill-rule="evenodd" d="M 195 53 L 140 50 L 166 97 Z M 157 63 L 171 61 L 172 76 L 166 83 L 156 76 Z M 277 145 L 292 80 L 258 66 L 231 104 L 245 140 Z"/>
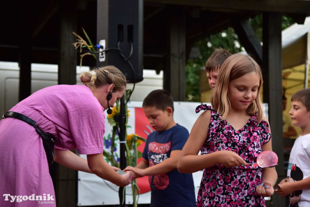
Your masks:
<path fill-rule="evenodd" d="M 90 72 L 83 72 L 80 75 L 80 79 L 89 88 L 114 84 L 115 90 L 118 91 L 126 87 L 126 77 L 114 66 L 105 66 L 91 70 Z"/>

